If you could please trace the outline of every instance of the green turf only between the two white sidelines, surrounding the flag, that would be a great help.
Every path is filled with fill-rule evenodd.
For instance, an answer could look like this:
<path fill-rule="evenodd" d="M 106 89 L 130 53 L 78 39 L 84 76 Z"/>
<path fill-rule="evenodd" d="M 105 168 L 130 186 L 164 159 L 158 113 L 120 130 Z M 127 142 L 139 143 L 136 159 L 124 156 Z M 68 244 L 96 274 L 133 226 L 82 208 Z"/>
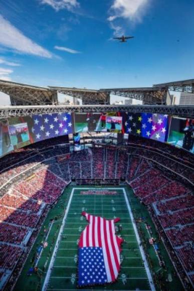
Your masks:
<path fill-rule="evenodd" d="M 116 211 L 115 211 L 116 209 Z M 123 191 L 117 190 L 117 195 L 81 195 L 80 190 L 74 192 L 63 235 L 59 244 L 59 250 L 54 262 L 53 270 L 48 284 L 49 289 L 75 289 L 76 280 L 74 274 L 77 273 L 76 257 L 78 253 L 77 240 L 81 231 L 87 224 L 86 219 L 81 216 L 82 211 L 86 211 L 96 216 L 105 217 L 107 219 L 115 217 L 121 218 L 122 237 L 126 240 L 123 244 L 123 256 L 121 272 L 118 282 L 107 285 L 106 289 L 123 289 L 131 290 L 136 287 L 139 289 L 149 289 L 149 283 L 146 275 L 143 261 L 138 248 L 138 243 L 133 230 L 131 219 L 126 207 Z M 83 219 L 83 220 L 81 220 Z M 136 249 L 136 254 L 129 253 L 128 248 Z M 72 248 L 71 250 L 69 250 Z M 71 253 L 70 253 L 71 251 Z M 125 255 L 124 255 L 125 253 Z M 135 257 L 135 258 L 134 258 Z M 123 281 L 123 276 L 126 281 Z M 76 276 L 77 278 L 77 276 Z M 65 283 L 65 286 L 62 288 Z M 94 289 L 102 289 L 101 287 L 93 287 Z"/>

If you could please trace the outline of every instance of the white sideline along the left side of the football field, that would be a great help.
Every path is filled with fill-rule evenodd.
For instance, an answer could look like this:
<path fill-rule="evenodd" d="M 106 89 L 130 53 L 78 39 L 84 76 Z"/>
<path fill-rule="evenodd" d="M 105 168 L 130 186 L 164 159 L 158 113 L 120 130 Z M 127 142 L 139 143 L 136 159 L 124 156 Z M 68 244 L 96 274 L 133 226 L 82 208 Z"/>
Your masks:
<path fill-rule="evenodd" d="M 47 289 L 49 278 L 51 276 L 51 269 L 52 269 L 53 264 L 54 264 L 55 256 L 56 256 L 56 253 L 57 253 L 57 250 L 58 250 L 58 246 L 59 246 L 60 237 L 61 237 L 61 234 L 63 232 L 64 226 L 65 226 L 65 222 L 66 222 L 66 218 L 67 218 L 68 211 L 69 211 L 69 208 L 70 208 L 70 204 L 71 204 L 71 201 L 72 201 L 74 190 L 75 190 L 75 188 L 73 188 L 72 191 L 71 191 L 71 195 L 70 195 L 70 198 L 69 198 L 67 209 L 66 209 L 66 212 L 65 212 L 65 215 L 64 215 L 64 218 L 63 218 L 63 222 L 62 222 L 59 234 L 58 234 L 58 238 L 57 238 L 57 241 L 56 241 L 56 244 L 55 244 L 55 248 L 54 248 L 54 251 L 53 251 L 53 254 L 52 254 L 52 257 L 51 257 L 50 264 L 49 264 L 49 268 L 47 270 L 47 274 L 46 274 L 45 281 L 44 281 L 44 284 L 43 284 L 43 287 L 42 287 L 42 291 L 46 291 L 46 289 Z"/>

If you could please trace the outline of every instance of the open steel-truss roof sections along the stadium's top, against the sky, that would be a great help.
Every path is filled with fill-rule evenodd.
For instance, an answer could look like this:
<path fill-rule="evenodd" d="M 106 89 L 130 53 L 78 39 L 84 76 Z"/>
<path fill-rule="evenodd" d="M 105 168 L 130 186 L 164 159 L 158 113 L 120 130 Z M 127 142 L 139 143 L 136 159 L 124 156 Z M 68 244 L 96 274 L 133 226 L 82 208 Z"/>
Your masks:
<path fill-rule="evenodd" d="M 143 104 L 166 104 L 169 90 L 194 92 L 194 80 L 184 80 L 138 88 L 100 90 L 48 86 L 38 87 L 0 80 L 0 91 L 10 95 L 12 105 L 57 105 L 57 93 L 82 99 L 83 104 L 109 104 L 110 94 L 142 100 Z"/>

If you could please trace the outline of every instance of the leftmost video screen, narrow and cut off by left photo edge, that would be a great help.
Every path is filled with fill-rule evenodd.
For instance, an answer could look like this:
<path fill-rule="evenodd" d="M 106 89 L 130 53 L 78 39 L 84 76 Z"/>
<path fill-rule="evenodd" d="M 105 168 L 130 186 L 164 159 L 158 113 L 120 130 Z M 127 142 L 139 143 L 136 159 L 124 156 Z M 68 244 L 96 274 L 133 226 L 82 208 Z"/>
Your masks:
<path fill-rule="evenodd" d="M 8 120 L 0 120 L 0 157 L 13 150 Z"/>

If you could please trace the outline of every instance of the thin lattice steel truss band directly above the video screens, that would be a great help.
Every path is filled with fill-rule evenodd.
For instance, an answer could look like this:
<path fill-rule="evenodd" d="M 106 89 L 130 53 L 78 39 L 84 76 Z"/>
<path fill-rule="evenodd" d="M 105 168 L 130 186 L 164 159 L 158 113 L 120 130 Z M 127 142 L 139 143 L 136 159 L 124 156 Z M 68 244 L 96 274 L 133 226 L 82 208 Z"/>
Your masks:
<path fill-rule="evenodd" d="M 160 113 L 194 119 L 194 106 L 190 105 L 41 105 L 0 107 L 0 119 L 13 116 L 59 112 L 111 112 Z"/>

